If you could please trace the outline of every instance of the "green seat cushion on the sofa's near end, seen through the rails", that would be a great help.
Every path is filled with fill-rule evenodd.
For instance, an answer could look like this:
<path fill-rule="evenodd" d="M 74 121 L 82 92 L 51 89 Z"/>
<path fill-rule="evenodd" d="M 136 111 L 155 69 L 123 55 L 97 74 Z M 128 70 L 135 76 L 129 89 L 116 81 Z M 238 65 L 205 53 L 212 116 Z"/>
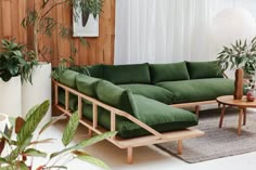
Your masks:
<path fill-rule="evenodd" d="M 184 109 L 175 108 L 154 100 L 135 94 L 135 100 L 141 117 L 141 121 L 149 125 L 159 132 L 175 131 L 185 129 L 197 125 L 197 118 L 194 114 Z M 92 106 L 84 106 L 84 116 L 92 119 Z M 110 112 L 99 108 L 98 122 L 100 126 L 110 130 Z M 116 130 L 123 139 L 137 138 L 150 134 L 148 131 L 127 120 L 124 117 L 116 117 Z"/>

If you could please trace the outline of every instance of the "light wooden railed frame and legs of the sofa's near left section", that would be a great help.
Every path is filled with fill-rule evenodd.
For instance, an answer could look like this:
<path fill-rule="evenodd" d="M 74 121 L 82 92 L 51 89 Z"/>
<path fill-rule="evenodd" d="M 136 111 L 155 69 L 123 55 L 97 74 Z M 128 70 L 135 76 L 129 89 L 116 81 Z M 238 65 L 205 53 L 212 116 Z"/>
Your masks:
<path fill-rule="evenodd" d="M 143 128 L 148 132 L 150 132 L 150 135 L 146 136 L 139 136 L 139 138 L 133 138 L 133 139 L 120 139 L 119 136 L 113 136 L 110 139 L 106 139 L 114 145 L 116 145 L 119 148 L 125 148 L 127 149 L 127 162 L 132 164 L 133 161 L 133 155 L 132 155 L 132 149 L 133 147 L 139 147 L 139 146 L 145 146 L 145 145 L 152 145 L 152 144 L 157 144 L 157 143 L 165 143 L 165 142 L 170 142 L 170 141 L 177 141 L 178 142 L 178 154 L 182 154 L 182 140 L 185 139 L 191 139 L 191 138 L 196 138 L 201 136 L 204 134 L 203 131 L 200 131 L 197 129 L 193 128 L 188 128 L 184 130 L 179 130 L 179 131 L 171 131 L 171 132 L 164 132 L 161 133 L 144 122 L 138 120 L 130 114 L 123 112 L 120 109 L 117 109 L 115 107 L 112 107 L 110 105 L 106 105 L 93 97 L 90 97 L 88 95 L 85 95 L 84 93 L 80 93 L 72 88 L 68 88 L 55 80 L 53 80 L 54 84 L 54 105 L 57 109 L 60 109 L 62 113 L 64 113 L 67 116 L 72 115 L 72 112 L 69 109 L 69 94 L 73 93 L 77 95 L 78 97 L 78 114 L 80 116 L 80 123 L 84 125 L 85 127 L 88 128 L 88 134 L 89 136 L 92 135 L 92 132 L 97 134 L 102 134 L 106 132 L 106 129 L 101 128 L 98 126 L 98 106 L 103 107 L 111 113 L 111 131 L 116 131 L 116 116 L 121 116 L 133 123 L 138 125 L 139 127 Z M 62 106 L 59 104 L 59 91 L 57 89 L 62 88 L 65 91 L 65 106 Z M 87 120 L 85 117 L 82 117 L 82 99 L 90 101 L 93 106 L 93 116 L 92 120 Z"/>

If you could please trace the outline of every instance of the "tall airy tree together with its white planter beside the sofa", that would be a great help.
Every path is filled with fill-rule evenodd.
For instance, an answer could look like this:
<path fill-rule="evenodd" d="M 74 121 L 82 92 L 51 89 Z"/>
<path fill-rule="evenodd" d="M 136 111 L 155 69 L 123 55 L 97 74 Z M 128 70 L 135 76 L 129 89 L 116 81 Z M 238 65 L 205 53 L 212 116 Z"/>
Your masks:
<path fill-rule="evenodd" d="M 48 44 L 40 44 L 39 38 L 51 38 L 53 31 L 59 32 L 60 37 L 68 40 L 71 43 L 72 55 L 76 53 L 76 49 L 73 42 L 71 26 L 65 26 L 59 23 L 54 17 L 51 16 L 51 11 L 60 5 L 71 8 L 74 13 L 74 19 L 77 21 L 80 13 L 92 14 L 95 18 L 102 11 L 103 0 L 35 0 L 34 6 L 27 10 L 27 14 L 22 21 L 22 25 L 33 27 L 34 42 L 33 50 L 35 51 L 36 58 L 42 58 L 46 61 L 44 55 L 51 53 L 52 50 Z M 75 10 L 72 10 L 75 9 Z M 85 39 L 81 39 L 85 43 Z M 30 97 L 30 94 L 34 97 Z M 23 84 L 23 113 L 35 105 L 35 103 L 41 102 L 43 99 L 51 100 L 51 63 L 41 63 L 40 66 L 36 67 L 33 76 L 33 84 Z M 47 114 L 46 120 L 51 118 L 51 110 Z"/>

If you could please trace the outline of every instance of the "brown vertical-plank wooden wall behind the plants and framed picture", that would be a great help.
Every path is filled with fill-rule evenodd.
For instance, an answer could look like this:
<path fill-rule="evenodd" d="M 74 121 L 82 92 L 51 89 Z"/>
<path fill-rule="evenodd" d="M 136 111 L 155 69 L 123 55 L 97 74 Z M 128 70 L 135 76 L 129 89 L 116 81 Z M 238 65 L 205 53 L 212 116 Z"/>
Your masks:
<path fill-rule="evenodd" d="M 0 0 L 0 38 L 16 37 L 20 42 L 33 44 L 31 28 L 27 31 L 21 26 L 26 9 L 35 5 L 29 0 Z M 72 9 L 59 5 L 51 11 L 50 16 L 66 26 L 72 26 Z M 104 0 L 103 13 L 100 17 L 100 36 L 98 38 L 86 38 L 89 47 L 82 45 L 78 38 L 75 39 L 75 47 L 78 49 L 75 62 L 80 65 L 91 65 L 98 63 L 113 64 L 115 38 L 115 0 Z M 40 47 L 49 44 L 52 54 L 46 58 L 56 66 L 61 57 L 71 56 L 69 42 L 63 40 L 56 31 L 48 39 L 39 37 Z M 41 58 L 43 61 L 44 58 Z"/>

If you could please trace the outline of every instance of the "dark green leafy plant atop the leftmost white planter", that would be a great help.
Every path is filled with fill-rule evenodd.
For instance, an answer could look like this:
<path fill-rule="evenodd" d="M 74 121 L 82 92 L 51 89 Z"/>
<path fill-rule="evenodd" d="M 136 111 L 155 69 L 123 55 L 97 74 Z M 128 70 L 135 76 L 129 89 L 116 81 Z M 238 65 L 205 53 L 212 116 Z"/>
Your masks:
<path fill-rule="evenodd" d="M 0 49 L 0 78 L 9 81 L 12 77 L 21 75 L 22 82 L 31 82 L 33 66 L 38 64 L 34 51 L 16 43 L 15 39 L 1 40 Z"/>

